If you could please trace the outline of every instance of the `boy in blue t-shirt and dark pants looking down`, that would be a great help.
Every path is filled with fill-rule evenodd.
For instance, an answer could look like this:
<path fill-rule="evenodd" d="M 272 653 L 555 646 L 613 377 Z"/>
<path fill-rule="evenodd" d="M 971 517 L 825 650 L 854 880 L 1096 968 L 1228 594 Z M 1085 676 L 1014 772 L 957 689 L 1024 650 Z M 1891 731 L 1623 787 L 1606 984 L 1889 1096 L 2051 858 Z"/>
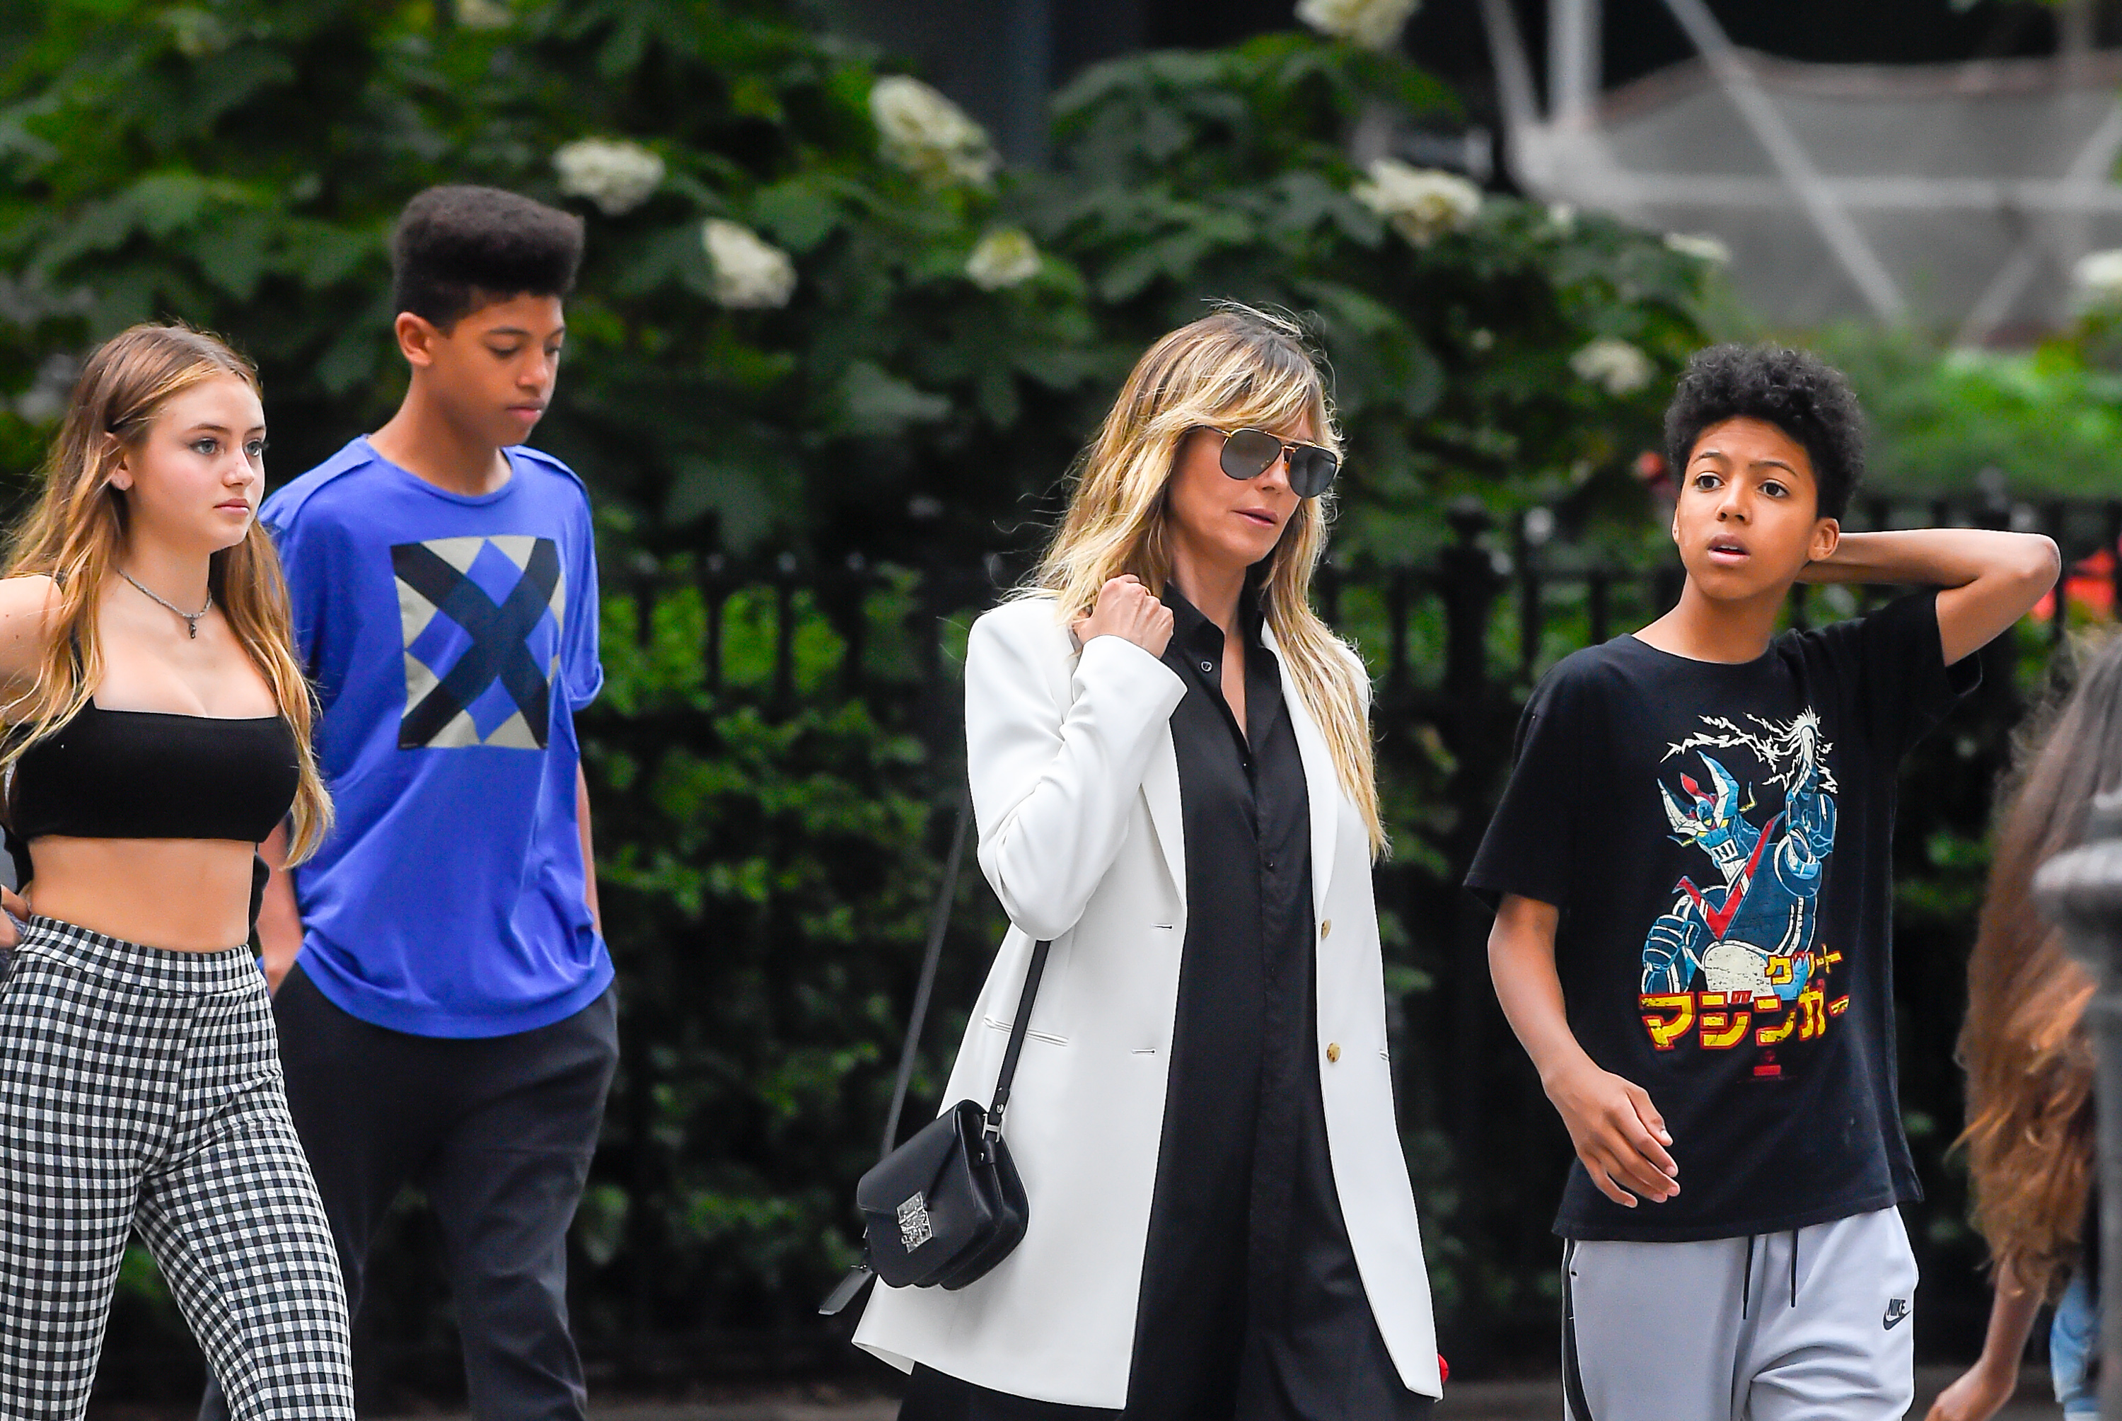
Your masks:
<path fill-rule="evenodd" d="M 618 1033 L 573 725 L 603 683 L 590 503 L 522 441 L 552 399 L 581 221 L 437 187 L 390 257 L 405 401 L 261 513 L 337 823 L 293 884 L 274 874 L 259 940 L 348 1304 L 418 1186 L 473 1413 L 558 1421 L 584 1415 L 567 1228 Z M 204 1415 L 225 1415 L 212 1389 Z"/>

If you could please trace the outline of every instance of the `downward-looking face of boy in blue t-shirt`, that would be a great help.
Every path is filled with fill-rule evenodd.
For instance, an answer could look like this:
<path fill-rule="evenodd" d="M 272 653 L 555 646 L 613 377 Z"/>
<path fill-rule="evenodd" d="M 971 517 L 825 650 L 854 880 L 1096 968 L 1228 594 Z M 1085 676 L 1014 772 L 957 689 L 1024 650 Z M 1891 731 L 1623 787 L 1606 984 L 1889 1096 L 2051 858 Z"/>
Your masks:
<path fill-rule="evenodd" d="M 567 320 L 560 297 L 516 295 L 437 327 L 399 312 L 397 341 L 422 399 L 465 437 L 524 443 L 552 403 Z"/>

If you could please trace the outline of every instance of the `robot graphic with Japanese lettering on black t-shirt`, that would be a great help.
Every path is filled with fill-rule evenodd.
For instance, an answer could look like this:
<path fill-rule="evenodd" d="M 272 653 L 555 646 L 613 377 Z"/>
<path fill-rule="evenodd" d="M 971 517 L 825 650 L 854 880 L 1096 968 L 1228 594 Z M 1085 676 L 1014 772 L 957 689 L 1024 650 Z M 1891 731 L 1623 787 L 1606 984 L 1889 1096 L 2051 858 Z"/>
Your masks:
<path fill-rule="evenodd" d="M 1789 721 L 1706 715 L 1666 749 L 1657 793 L 1672 840 L 1695 850 L 1672 908 L 1642 940 L 1642 1024 L 1657 1050 L 1810 1041 L 1848 1010 L 1829 999 L 1842 961 L 1816 940 L 1821 876 L 1836 846 L 1833 744 L 1810 708 Z M 1768 812 L 1761 793 L 1782 791 Z"/>

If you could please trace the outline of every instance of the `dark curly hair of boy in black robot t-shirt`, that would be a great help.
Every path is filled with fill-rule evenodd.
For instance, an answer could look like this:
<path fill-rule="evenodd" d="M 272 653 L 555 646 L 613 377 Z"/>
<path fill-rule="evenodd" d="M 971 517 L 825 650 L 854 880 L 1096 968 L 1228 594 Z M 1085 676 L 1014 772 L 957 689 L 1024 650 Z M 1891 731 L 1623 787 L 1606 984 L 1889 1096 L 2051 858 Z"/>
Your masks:
<path fill-rule="evenodd" d="M 1808 350 L 1710 346 L 1698 350 L 1666 405 L 1666 460 L 1687 477 L 1695 439 L 1723 420 L 1763 420 L 1806 445 L 1819 517 L 1842 517 L 1863 479 L 1863 409 L 1848 378 Z"/>

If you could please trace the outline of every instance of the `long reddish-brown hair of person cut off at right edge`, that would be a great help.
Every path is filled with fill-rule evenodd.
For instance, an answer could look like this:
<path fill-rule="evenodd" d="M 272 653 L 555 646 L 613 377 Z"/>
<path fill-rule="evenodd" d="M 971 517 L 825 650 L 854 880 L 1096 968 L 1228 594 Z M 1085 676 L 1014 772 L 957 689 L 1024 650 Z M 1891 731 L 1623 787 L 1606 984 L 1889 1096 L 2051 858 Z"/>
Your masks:
<path fill-rule="evenodd" d="M 2033 872 L 2084 842 L 2092 797 L 2122 783 L 2122 636 L 2029 740 L 1967 959 L 1967 1164 L 1976 1228 L 1999 1268 L 2054 1296 L 2080 1258 L 2092 1183 L 2092 978 L 2033 901 Z"/>

